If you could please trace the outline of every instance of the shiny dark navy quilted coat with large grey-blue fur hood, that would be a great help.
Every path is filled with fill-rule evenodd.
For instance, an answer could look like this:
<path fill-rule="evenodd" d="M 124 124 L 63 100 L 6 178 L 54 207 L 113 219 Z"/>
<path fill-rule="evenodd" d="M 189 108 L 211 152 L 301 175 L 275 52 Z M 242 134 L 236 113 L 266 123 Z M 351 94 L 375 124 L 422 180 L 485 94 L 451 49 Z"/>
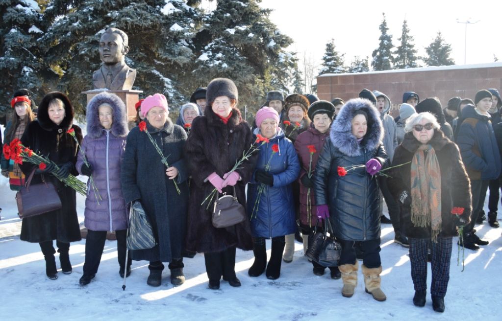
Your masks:
<path fill-rule="evenodd" d="M 360 143 L 351 133 L 356 110 L 368 115 L 367 133 Z M 364 165 L 371 158 L 388 166 L 382 143 L 383 127 L 376 108 L 365 99 L 352 99 L 340 110 L 331 126 L 314 174 L 316 205 L 327 204 L 335 236 L 365 241 L 380 237 L 380 190 L 376 176 L 357 168 L 338 176 L 338 166 Z"/>

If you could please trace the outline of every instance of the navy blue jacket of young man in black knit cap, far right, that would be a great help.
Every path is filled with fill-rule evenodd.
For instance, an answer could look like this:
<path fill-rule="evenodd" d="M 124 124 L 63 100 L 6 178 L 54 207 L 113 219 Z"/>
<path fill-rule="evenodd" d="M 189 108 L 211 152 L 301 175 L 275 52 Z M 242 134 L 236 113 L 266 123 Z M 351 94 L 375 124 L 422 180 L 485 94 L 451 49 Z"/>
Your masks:
<path fill-rule="evenodd" d="M 457 145 L 469 178 L 496 179 L 500 175 L 500 154 L 490 117 L 478 114 L 472 105 L 462 110 Z"/>

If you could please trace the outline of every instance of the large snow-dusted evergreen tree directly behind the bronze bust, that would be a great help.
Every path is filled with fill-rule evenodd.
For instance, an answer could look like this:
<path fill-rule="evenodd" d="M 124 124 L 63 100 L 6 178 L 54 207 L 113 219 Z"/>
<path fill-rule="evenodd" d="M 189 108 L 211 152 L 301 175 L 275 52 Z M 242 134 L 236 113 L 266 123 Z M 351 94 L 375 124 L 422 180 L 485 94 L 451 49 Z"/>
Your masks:
<path fill-rule="evenodd" d="M 83 111 L 86 101 L 80 92 L 93 88 L 92 72 L 101 63 L 99 38 L 105 28 L 114 27 L 129 37 L 126 63 L 138 72 L 133 89 L 146 95 L 163 93 L 170 104 L 179 106 L 186 93 L 180 92 L 178 78 L 193 59 L 199 13 L 182 0 L 52 1 L 46 13 L 52 26 L 43 42 L 48 62 L 60 72 L 59 90 Z"/>

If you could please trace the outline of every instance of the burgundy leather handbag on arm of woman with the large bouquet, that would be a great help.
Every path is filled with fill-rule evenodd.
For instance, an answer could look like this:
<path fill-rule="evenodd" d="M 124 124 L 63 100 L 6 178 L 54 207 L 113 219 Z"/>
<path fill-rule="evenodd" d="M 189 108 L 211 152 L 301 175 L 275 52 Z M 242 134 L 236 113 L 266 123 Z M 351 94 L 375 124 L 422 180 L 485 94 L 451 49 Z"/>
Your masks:
<path fill-rule="evenodd" d="M 25 186 L 16 193 L 20 218 L 40 215 L 62 207 L 61 199 L 52 183 L 45 182 L 42 177 L 43 183 L 31 184 L 35 170 L 31 172 Z"/>

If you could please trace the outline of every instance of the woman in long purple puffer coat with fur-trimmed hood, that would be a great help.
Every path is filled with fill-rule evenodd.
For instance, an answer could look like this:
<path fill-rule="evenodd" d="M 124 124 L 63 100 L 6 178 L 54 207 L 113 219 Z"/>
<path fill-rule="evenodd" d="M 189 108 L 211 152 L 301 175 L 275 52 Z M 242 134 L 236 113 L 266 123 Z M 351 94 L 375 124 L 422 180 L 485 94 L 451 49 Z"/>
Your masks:
<path fill-rule="evenodd" d="M 88 284 L 97 273 L 107 231 L 115 231 L 117 238 L 120 277 L 124 271 L 128 276 L 131 273 L 131 257 L 126 270 L 128 216 L 120 184 L 120 161 L 129 132 L 126 115 L 126 106 L 120 98 L 107 92 L 96 95 L 87 104 L 87 136 L 81 150 L 88 165 L 79 153 L 76 167 L 80 174 L 92 175 L 98 191 L 94 193 L 89 179 L 84 212 L 88 231 L 81 285 Z"/>

